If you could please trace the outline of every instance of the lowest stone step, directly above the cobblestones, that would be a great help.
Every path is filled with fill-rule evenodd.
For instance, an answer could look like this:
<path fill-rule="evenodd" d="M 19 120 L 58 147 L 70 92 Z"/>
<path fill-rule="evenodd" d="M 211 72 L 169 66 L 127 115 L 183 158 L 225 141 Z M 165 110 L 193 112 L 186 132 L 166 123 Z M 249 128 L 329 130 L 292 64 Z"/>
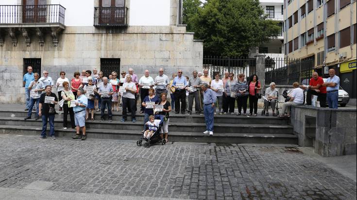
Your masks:
<path fill-rule="evenodd" d="M 48 128 L 49 129 L 49 128 Z M 129 139 L 137 140 L 141 137 L 136 130 L 94 129 L 86 130 L 88 138 Z M 23 125 L 0 125 L 0 134 L 40 135 L 41 127 Z M 48 132 L 47 132 L 48 133 Z M 56 137 L 71 138 L 74 129 L 63 130 L 55 128 Z M 265 144 L 297 144 L 297 137 L 293 134 L 259 134 L 259 133 L 214 133 L 213 136 L 202 132 L 170 132 L 170 142 L 217 142 L 217 143 L 265 143 Z M 133 143 L 133 145 L 136 145 Z"/>

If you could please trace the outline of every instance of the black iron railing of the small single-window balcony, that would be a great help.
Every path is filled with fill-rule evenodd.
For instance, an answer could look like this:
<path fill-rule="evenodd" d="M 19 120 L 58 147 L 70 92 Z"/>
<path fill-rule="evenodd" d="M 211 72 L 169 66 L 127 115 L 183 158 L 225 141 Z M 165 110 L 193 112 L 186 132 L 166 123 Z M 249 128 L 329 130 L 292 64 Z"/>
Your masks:
<path fill-rule="evenodd" d="M 94 7 L 94 26 L 127 26 L 127 7 Z"/>

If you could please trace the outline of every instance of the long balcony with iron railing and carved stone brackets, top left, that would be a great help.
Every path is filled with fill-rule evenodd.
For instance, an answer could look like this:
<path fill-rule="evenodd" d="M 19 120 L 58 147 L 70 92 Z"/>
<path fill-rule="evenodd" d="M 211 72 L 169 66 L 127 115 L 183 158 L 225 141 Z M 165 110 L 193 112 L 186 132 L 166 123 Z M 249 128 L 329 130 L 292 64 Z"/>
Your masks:
<path fill-rule="evenodd" d="M 65 30 L 66 8 L 51 5 L 0 5 L 0 32 L 10 35 L 13 46 L 17 46 L 18 32 L 30 46 L 30 34 L 36 33 L 40 46 L 44 44 L 44 34 L 51 33 L 53 46 L 58 44 L 58 33 Z M 4 39 L 0 36 L 0 46 Z"/>

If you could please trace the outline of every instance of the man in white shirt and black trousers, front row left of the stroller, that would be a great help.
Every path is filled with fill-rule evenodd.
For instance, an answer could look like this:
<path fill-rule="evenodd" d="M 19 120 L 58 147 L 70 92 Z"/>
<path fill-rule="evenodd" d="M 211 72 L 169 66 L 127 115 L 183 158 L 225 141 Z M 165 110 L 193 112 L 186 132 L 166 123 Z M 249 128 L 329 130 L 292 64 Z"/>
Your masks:
<path fill-rule="evenodd" d="M 126 92 L 123 92 L 122 95 L 122 105 L 123 105 L 123 111 L 122 115 L 123 118 L 121 119 L 120 122 L 125 122 L 127 120 L 127 111 L 126 109 L 128 106 L 131 108 L 131 115 L 132 115 L 132 122 L 135 123 L 135 93 L 136 93 L 136 85 L 134 82 L 132 82 L 132 77 L 127 76 L 126 77 L 126 82 L 121 86 L 125 89 Z"/>

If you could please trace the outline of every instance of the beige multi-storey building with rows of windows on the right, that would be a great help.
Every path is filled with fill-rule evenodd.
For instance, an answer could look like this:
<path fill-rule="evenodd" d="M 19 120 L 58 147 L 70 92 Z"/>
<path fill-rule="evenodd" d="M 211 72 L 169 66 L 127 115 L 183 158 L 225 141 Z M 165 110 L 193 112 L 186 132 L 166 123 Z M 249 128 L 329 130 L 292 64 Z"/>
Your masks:
<path fill-rule="evenodd" d="M 284 46 L 289 59 L 313 59 L 323 77 L 335 68 L 356 98 L 356 0 L 284 0 Z"/>

